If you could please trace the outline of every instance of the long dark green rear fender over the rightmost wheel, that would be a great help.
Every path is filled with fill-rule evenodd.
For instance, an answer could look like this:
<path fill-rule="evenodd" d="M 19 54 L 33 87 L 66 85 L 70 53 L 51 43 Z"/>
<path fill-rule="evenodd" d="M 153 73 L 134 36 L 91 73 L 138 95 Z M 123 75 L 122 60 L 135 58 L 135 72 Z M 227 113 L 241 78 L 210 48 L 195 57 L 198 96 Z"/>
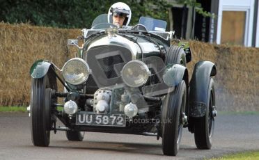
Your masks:
<path fill-rule="evenodd" d="M 194 66 L 189 90 L 189 115 L 191 117 L 198 118 L 205 115 L 210 77 L 216 74 L 216 66 L 210 61 L 199 61 Z"/>

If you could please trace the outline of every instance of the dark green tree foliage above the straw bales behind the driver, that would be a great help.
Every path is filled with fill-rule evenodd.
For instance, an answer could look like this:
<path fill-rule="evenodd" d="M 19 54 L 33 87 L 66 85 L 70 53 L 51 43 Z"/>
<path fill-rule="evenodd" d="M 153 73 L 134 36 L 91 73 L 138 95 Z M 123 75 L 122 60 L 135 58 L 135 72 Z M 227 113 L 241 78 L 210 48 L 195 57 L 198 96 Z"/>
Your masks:
<path fill-rule="evenodd" d="M 118 0 L 0 0 L 0 22 L 30 23 L 38 26 L 59 28 L 91 28 L 97 15 L 108 13 Z M 132 9 L 130 25 L 137 24 L 139 17 L 153 17 L 168 21 L 166 0 L 120 0 Z M 176 0 L 194 3 L 196 0 Z M 198 6 L 194 3 L 194 6 Z M 203 13 L 203 10 L 200 10 Z"/>

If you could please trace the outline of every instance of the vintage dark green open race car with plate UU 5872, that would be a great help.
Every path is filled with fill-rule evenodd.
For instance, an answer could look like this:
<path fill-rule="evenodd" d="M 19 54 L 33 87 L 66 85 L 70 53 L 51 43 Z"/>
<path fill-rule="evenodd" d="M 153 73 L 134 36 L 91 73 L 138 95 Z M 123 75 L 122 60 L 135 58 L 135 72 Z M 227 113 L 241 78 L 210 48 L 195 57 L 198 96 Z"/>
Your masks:
<path fill-rule="evenodd" d="M 217 115 L 214 63 L 199 61 L 189 79 L 189 45 L 166 32 L 166 22 L 141 17 L 136 26 L 118 28 L 105 19 L 100 15 L 82 30 L 82 46 L 68 40 L 78 53 L 62 69 L 47 60 L 33 63 L 33 145 L 48 146 L 52 130 L 65 131 L 69 141 L 82 141 L 85 131 L 139 134 L 162 138 L 164 154 L 176 155 L 188 127 L 198 149 L 210 149 Z"/>

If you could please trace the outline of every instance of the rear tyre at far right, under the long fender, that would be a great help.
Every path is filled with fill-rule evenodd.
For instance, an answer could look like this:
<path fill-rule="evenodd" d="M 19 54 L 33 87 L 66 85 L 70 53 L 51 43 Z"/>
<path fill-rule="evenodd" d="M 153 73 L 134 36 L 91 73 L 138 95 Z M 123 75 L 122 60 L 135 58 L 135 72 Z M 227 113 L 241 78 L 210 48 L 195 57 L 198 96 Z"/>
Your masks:
<path fill-rule="evenodd" d="M 198 149 L 209 150 L 212 147 L 212 135 L 214 131 L 215 113 L 215 90 L 214 81 L 210 79 L 207 91 L 206 113 L 202 118 L 196 118 L 194 122 L 194 139 Z"/>

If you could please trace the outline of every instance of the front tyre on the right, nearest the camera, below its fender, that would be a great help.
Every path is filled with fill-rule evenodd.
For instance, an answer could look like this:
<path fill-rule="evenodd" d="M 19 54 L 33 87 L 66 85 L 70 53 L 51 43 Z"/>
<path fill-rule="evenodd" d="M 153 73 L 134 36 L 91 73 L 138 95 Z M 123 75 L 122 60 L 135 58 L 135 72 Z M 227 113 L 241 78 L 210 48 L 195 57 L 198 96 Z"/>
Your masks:
<path fill-rule="evenodd" d="M 162 104 L 162 149 L 164 154 L 175 156 L 180 148 L 185 118 L 187 88 L 185 81 L 168 93 Z"/>

